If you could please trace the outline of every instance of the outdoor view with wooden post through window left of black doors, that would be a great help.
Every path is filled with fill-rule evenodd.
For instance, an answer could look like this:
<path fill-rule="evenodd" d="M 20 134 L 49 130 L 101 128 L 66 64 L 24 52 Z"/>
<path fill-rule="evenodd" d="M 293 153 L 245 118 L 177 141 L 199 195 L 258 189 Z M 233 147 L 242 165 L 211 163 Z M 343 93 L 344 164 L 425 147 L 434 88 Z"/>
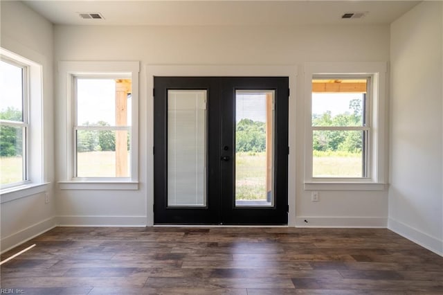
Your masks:
<path fill-rule="evenodd" d="M 75 176 L 129 177 L 131 80 L 75 80 Z"/>

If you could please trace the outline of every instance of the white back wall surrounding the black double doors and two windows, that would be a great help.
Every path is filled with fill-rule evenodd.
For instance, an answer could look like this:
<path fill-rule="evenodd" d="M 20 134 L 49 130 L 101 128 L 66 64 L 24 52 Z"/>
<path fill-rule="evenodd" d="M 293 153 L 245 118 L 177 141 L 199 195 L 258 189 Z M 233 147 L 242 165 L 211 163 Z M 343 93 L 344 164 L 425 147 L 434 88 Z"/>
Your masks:
<path fill-rule="evenodd" d="M 57 190 L 57 215 L 62 224 L 143 225 L 152 219 L 152 209 L 146 205 L 152 191 L 152 184 L 147 182 L 147 173 L 152 169 L 147 167 L 152 157 L 152 147 L 147 146 L 152 140 L 148 137 L 152 136 L 152 118 L 147 118 L 152 98 L 146 91 L 147 64 L 280 64 L 299 69 L 290 102 L 289 182 L 295 188 L 290 199 L 296 199 L 291 202 L 291 211 L 311 218 L 314 226 L 386 226 L 386 190 L 322 191 L 316 203 L 304 190 L 302 69 L 305 62 L 388 61 L 389 26 L 55 26 L 55 62 L 68 60 L 141 62 L 141 186 L 138 191 L 127 192 Z M 66 163 L 65 110 L 57 104 L 63 99 L 56 99 L 57 175 Z"/>

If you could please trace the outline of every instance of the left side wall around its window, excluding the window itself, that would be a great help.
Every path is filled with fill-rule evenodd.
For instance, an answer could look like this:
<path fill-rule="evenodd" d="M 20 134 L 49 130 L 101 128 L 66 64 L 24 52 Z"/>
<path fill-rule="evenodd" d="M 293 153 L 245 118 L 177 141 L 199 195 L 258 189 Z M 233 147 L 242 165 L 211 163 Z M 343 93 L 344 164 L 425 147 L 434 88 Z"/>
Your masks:
<path fill-rule="evenodd" d="M 53 132 L 53 25 L 19 1 L 0 1 L 1 47 L 42 64 L 43 68 L 43 134 L 44 193 L 3 202 L 1 212 L 1 251 L 28 240 L 55 225 L 54 132 Z M 30 147 L 32 149 L 32 147 Z M 2 196 L 3 197 L 3 196 Z"/>

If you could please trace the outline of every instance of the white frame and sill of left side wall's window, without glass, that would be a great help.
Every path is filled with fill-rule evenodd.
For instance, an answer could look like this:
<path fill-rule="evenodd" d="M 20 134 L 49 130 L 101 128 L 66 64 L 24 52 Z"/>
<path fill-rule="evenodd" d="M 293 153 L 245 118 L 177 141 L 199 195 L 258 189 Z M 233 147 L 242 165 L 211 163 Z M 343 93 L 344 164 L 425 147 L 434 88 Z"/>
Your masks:
<path fill-rule="evenodd" d="M 42 64 L 26 57 L 0 48 L 0 57 L 6 62 L 12 62 L 25 69 L 24 71 L 24 122 L 13 122 L 26 128 L 24 136 L 24 180 L 15 184 L 1 186 L 1 203 L 10 202 L 21 197 L 28 197 L 46 191 L 48 182 L 44 180 L 44 141 L 43 141 L 43 68 Z M 41 56 L 34 54 L 33 58 L 42 61 Z M 10 122 L 9 122 L 10 123 Z M 3 124 L 3 123 L 2 123 Z M 18 124 L 18 125 L 17 125 Z M 11 124 L 7 124 L 11 125 Z"/>

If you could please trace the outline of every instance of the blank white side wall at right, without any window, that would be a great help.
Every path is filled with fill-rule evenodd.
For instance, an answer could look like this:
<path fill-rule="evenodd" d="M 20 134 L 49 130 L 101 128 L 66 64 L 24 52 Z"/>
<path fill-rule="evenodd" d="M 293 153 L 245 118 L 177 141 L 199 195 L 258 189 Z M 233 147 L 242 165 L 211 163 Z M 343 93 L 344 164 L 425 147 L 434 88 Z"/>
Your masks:
<path fill-rule="evenodd" d="M 443 255 L 442 2 L 424 1 L 390 28 L 388 227 Z"/>

